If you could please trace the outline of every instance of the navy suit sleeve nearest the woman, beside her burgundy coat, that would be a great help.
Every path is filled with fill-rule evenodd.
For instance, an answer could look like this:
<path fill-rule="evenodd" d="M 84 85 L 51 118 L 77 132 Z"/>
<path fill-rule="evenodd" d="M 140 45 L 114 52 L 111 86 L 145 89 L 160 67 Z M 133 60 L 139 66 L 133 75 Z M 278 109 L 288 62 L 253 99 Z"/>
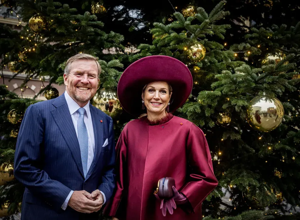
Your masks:
<path fill-rule="evenodd" d="M 112 118 L 110 118 L 109 122 L 108 137 L 108 162 L 105 164 L 102 175 L 102 183 L 98 188 L 104 193 L 106 200 L 109 200 L 112 197 L 112 193 L 115 188 L 115 135 Z"/>

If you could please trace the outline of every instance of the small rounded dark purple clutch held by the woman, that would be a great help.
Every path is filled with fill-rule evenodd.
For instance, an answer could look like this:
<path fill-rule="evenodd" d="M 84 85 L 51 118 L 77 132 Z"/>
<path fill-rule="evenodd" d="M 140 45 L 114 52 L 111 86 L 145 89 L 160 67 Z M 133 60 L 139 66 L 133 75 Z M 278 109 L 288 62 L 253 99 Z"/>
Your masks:
<path fill-rule="evenodd" d="M 158 181 L 156 191 L 154 194 L 158 194 L 159 198 L 172 198 L 174 192 L 172 186 L 175 186 L 175 179 L 172 177 L 164 177 Z"/>

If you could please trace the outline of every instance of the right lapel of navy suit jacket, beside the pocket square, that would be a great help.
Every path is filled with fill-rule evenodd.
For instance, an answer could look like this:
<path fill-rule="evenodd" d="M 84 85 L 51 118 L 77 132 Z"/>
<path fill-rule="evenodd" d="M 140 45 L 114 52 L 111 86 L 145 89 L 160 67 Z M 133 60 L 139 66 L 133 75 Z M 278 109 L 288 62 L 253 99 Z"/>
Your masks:
<path fill-rule="evenodd" d="M 102 150 L 103 145 L 103 123 L 100 122 L 101 119 L 99 119 L 99 114 L 94 106 L 90 104 L 90 112 L 93 122 L 93 129 L 94 129 L 94 137 L 95 137 L 95 152 L 94 152 L 94 158 L 93 162 L 91 164 L 91 167 L 88 169 L 88 174 L 86 175 L 87 179 L 93 172 L 93 169 L 98 162 L 100 152 Z"/>

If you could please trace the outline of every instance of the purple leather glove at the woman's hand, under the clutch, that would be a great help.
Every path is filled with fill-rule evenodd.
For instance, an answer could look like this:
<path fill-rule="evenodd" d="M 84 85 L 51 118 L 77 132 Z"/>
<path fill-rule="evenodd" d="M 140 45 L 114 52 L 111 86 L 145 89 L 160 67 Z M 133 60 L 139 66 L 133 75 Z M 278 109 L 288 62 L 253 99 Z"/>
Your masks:
<path fill-rule="evenodd" d="M 180 194 L 174 186 L 172 186 L 172 190 L 174 192 L 174 196 L 170 199 L 162 199 L 162 201 L 160 203 L 160 209 L 162 210 L 163 216 L 166 216 L 167 209 L 168 209 L 168 212 L 172 215 L 173 209 L 177 208 L 176 203 L 183 204 L 183 203 L 187 202 L 187 198 L 184 195 Z M 154 195 L 157 199 L 160 199 L 157 194 L 154 194 Z"/>

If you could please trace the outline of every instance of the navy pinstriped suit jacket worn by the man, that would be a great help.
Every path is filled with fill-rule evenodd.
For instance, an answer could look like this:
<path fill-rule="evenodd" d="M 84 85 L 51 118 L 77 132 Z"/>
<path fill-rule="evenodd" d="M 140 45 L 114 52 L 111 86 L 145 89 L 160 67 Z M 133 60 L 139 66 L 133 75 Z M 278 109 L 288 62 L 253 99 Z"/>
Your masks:
<path fill-rule="evenodd" d="M 80 147 L 65 95 L 30 105 L 15 151 L 14 175 L 25 185 L 21 220 L 97 219 L 61 206 L 71 190 L 96 189 L 106 200 L 115 187 L 115 140 L 112 118 L 90 104 L 95 153 L 84 178 Z M 103 146 L 105 140 L 108 144 Z M 81 217 L 80 217 L 81 216 Z"/>

